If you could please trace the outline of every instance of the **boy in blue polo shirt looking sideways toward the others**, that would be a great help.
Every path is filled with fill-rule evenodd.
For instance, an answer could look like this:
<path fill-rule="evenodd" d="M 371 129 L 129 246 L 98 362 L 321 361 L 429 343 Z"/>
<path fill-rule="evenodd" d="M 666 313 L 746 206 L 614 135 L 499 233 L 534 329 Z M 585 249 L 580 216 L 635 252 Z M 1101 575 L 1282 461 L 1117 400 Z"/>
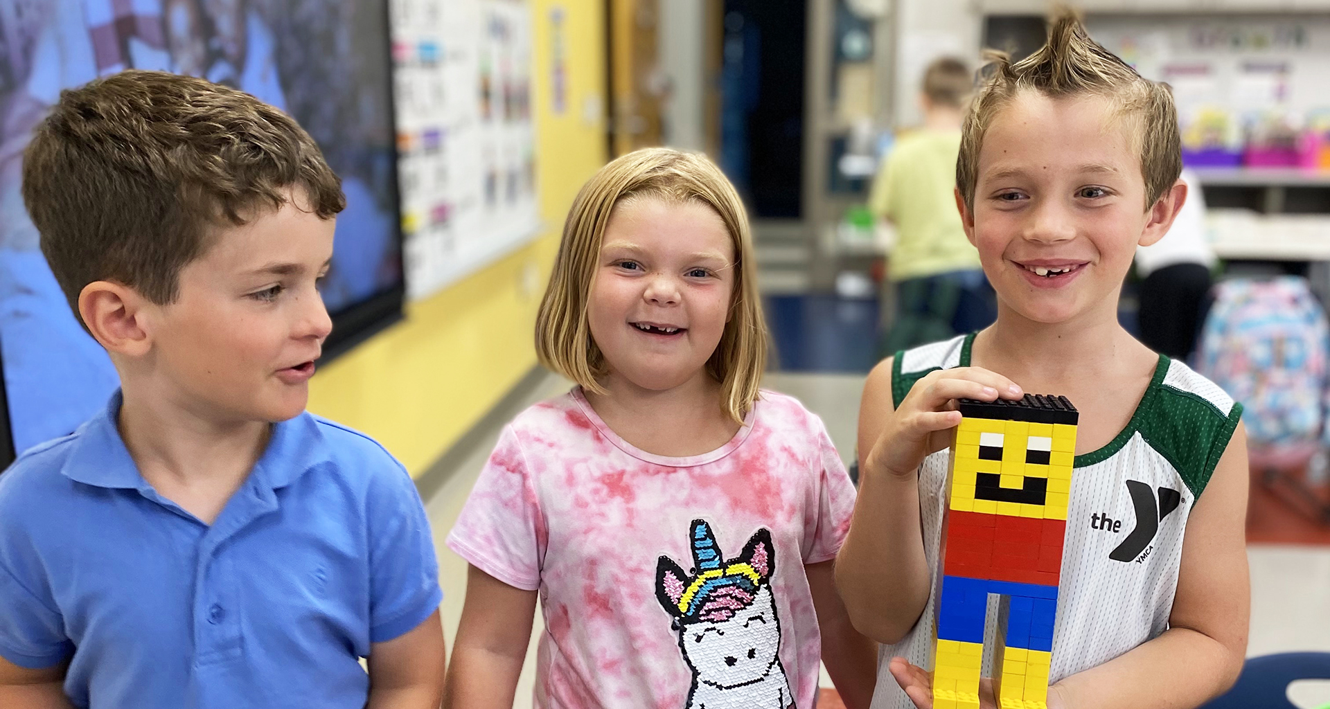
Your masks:
<path fill-rule="evenodd" d="M 305 412 L 344 205 L 309 134 L 125 72 L 61 96 L 23 178 L 121 391 L 0 475 L 0 706 L 436 708 L 420 497 Z"/>

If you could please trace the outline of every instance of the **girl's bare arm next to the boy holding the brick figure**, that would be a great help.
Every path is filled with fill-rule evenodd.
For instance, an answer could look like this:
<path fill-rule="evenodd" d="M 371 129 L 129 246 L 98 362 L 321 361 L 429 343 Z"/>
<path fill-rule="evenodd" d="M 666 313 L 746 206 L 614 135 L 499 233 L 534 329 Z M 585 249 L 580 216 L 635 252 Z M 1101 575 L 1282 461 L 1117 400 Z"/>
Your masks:
<path fill-rule="evenodd" d="M 803 567 L 822 633 L 822 664 L 847 709 L 868 709 L 872 689 L 878 685 L 878 644 L 850 624 L 835 591 L 834 564 L 823 561 Z"/>

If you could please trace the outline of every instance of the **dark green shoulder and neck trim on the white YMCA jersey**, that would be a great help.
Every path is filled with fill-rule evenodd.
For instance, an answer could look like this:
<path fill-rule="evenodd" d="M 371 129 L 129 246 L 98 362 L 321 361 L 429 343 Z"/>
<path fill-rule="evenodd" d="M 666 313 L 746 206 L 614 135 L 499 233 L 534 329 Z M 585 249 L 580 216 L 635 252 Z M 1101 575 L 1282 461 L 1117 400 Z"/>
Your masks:
<path fill-rule="evenodd" d="M 968 367 L 975 335 L 966 335 L 960 347 L 958 366 Z M 915 382 L 942 367 L 928 367 L 920 371 L 900 371 L 904 351 L 895 355 L 891 366 L 891 398 L 899 407 Z M 1164 456 L 1186 484 L 1196 499 L 1200 499 L 1206 483 L 1214 474 L 1224 451 L 1228 450 L 1233 431 L 1242 418 L 1242 404 L 1233 402 L 1228 416 L 1214 403 L 1202 396 L 1164 384 L 1172 360 L 1160 355 L 1154 375 L 1145 387 L 1141 402 L 1136 404 L 1127 427 L 1104 447 L 1084 455 L 1077 455 L 1075 467 L 1083 468 L 1108 460 L 1127 446 L 1137 432 Z"/>

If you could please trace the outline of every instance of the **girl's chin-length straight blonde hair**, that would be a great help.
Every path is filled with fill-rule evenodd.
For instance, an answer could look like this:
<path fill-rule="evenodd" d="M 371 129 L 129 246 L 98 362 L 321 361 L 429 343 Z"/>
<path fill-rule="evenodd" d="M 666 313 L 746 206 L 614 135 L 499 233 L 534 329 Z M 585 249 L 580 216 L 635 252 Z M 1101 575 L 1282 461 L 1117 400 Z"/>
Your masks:
<path fill-rule="evenodd" d="M 706 371 L 721 383 L 721 407 L 743 423 L 758 398 L 766 368 L 767 333 L 757 293 L 753 234 L 734 186 L 710 160 L 668 148 L 628 153 L 600 169 L 577 193 L 555 270 L 536 315 L 536 355 L 545 367 L 602 394 L 605 356 L 591 337 L 587 305 L 598 265 L 605 226 L 614 206 L 653 198 L 669 204 L 704 204 L 721 217 L 734 243 L 734 293 L 730 318 Z"/>

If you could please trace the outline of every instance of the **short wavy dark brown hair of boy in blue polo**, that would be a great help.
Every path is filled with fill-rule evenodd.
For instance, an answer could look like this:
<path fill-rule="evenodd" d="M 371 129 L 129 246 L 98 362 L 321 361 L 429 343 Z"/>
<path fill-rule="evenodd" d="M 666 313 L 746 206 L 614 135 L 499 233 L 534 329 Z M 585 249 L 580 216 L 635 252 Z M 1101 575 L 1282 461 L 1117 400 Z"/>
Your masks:
<path fill-rule="evenodd" d="M 176 299 L 180 270 L 217 226 L 281 209 L 331 218 L 336 174 L 294 118 L 237 89 L 128 71 L 64 90 L 23 161 L 23 200 L 41 253 L 78 315 L 96 281 L 154 303 Z"/>

